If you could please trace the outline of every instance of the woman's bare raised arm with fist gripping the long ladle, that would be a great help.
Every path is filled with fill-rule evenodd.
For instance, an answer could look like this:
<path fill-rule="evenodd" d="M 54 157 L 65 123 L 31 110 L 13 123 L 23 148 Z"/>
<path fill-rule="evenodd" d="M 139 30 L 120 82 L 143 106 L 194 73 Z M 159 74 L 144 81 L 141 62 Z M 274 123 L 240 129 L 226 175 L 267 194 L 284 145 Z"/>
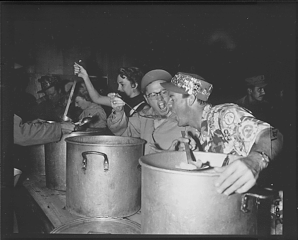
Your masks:
<path fill-rule="evenodd" d="M 92 99 L 93 102 L 105 106 L 111 106 L 110 97 L 108 96 L 101 96 L 94 88 L 93 84 L 90 81 L 89 75 L 87 71 L 76 62 L 74 62 L 74 74 L 77 74 L 78 77 L 84 80 L 86 85 L 87 91 Z"/>

